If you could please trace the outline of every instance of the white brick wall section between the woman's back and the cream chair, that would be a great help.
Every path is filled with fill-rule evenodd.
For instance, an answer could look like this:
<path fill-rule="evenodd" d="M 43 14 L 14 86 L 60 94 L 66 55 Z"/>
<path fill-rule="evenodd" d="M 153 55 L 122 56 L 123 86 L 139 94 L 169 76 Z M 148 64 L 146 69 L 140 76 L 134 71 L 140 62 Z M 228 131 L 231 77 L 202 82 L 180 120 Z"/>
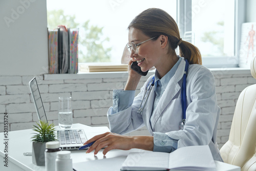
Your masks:
<path fill-rule="evenodd" d="M 215 72 L 213 72 L 215 74 Z M 219 146 L 228 140 L 234 109 L 240 93 L 256 80 L 250 74 L 220 74 L 216 77 L 216 93 L 221 115 L 218 126 Z"/>

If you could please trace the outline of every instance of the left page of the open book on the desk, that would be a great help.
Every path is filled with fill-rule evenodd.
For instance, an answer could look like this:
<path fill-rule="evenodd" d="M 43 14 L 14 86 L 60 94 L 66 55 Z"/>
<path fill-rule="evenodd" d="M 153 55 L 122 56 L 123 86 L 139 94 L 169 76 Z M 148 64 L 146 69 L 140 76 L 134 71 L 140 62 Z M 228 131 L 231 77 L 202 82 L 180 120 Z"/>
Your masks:
<path fill-rule="evenodd" d="M 129 153 L 122 164 L 122 170 L 165 170 L 168 168 L 168 153 Z"/>

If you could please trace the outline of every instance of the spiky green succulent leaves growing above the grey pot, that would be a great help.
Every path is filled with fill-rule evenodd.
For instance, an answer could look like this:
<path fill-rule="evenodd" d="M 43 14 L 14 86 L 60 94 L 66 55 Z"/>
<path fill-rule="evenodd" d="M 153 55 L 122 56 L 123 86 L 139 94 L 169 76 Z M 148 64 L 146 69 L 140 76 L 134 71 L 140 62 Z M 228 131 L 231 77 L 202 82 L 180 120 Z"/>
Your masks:
<path fill-rule="evenodd" d="M 49 142 L 49 141 L 57 141 L 55 139 L 54 134 L 54 124 L 48 125 L 46 121 L 41 121 L 40 123 L 36 123 L 37 125 L 33 125 L 33 131 L 37 133 L 33 137 L 31 137 L 34 142 Z"/>

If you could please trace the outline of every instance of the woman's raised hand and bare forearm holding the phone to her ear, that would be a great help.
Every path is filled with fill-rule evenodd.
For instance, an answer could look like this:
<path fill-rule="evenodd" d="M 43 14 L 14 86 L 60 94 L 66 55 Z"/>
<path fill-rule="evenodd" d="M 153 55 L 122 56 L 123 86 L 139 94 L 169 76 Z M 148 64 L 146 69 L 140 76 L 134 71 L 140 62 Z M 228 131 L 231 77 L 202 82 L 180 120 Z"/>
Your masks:
<path fill-rule="evenodd" d="M 124 90 L 136 90 L 138 83 L 140 81 L 141 75 L 138 74 L 136 71 L 131 69 L 132 62 L 137 62 L 135 58 L 131 58 L 128 62 L 128 79 L 126 82 L 126 85 L 124 87 Z"/>

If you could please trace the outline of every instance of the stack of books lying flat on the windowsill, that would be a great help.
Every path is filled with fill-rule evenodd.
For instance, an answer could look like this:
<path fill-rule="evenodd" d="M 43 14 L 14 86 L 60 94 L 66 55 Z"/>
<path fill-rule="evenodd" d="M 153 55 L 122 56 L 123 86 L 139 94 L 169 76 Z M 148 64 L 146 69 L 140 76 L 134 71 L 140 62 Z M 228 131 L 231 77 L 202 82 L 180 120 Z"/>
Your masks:
<path fill-rule="evenodd" d="M 128 71 L 127 64 L 116 63 L 81 63 L 79 65 L 81 72 L 115 72 Z"/>

